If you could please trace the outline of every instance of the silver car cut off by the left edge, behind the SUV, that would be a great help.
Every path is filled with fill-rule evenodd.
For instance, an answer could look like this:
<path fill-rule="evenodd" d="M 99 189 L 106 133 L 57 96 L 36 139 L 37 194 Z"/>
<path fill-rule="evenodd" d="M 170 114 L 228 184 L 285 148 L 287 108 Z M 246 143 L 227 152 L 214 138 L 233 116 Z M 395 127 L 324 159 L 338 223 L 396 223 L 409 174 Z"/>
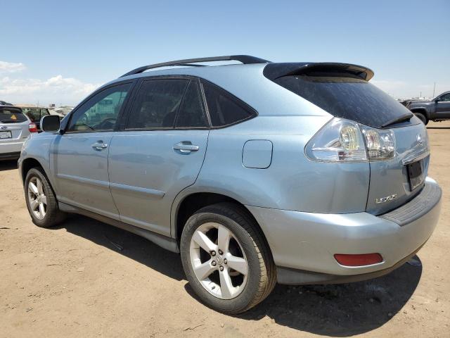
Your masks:
<path fill-rule="evenodd" d="M 0 106 L 0 161 L 20 156 L 23 142 L 37 132 L 37 125 L 15 106 Z"/>

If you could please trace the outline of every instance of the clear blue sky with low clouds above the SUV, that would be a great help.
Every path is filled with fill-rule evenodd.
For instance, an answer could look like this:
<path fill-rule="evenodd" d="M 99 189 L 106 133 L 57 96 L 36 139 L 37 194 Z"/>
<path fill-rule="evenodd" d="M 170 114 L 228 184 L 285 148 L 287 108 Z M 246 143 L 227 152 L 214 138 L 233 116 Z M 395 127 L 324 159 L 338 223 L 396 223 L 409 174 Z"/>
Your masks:
<path fill-rule="evenodd" d="M 229 54 L 366 65 L 396 97 L 450 90 L 450 1 L 7 1 L 0 100 L 76 104 L 148 63 Z"/>

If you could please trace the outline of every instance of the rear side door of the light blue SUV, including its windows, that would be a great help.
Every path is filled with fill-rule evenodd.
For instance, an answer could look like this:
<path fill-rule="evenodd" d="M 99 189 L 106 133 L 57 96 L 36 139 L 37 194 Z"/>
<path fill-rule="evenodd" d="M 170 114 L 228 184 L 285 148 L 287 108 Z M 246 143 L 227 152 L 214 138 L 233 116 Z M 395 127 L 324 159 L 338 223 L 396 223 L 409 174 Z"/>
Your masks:
<path fill-rule="evenodd" d="M 198 80 L 146 79 L 133 101 L 111 140 L 111 193 L 122 222 L 170 236 L 172 201 L 205 158 L 209 123 Z"/>

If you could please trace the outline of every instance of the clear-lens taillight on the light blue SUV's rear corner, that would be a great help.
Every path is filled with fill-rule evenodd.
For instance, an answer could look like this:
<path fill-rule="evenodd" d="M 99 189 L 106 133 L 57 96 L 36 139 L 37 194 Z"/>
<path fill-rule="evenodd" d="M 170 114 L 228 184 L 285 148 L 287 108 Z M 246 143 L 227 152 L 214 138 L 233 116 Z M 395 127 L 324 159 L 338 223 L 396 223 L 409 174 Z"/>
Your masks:
<path fill-rule="evenodd" d="M 380 130 L 344 118 L 333 118 L 308 142 L 305 154 L 312 161 L 380 161 L 395 156 L 392 130 Z"/>

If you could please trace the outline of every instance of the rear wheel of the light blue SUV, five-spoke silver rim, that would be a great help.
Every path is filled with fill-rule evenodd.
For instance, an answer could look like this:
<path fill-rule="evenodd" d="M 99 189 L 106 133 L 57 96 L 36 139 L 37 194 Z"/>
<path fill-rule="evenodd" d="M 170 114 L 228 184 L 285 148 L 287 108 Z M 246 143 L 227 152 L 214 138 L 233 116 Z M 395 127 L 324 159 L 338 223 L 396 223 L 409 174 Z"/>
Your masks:
<path fill-rule="evenodd" d="M 269 246 L 255 221 L 235 204 L 207 206 L 188 219 L 181 261 L 195 294 L 222 313 L 247 311 L 276 284 Z"/>

